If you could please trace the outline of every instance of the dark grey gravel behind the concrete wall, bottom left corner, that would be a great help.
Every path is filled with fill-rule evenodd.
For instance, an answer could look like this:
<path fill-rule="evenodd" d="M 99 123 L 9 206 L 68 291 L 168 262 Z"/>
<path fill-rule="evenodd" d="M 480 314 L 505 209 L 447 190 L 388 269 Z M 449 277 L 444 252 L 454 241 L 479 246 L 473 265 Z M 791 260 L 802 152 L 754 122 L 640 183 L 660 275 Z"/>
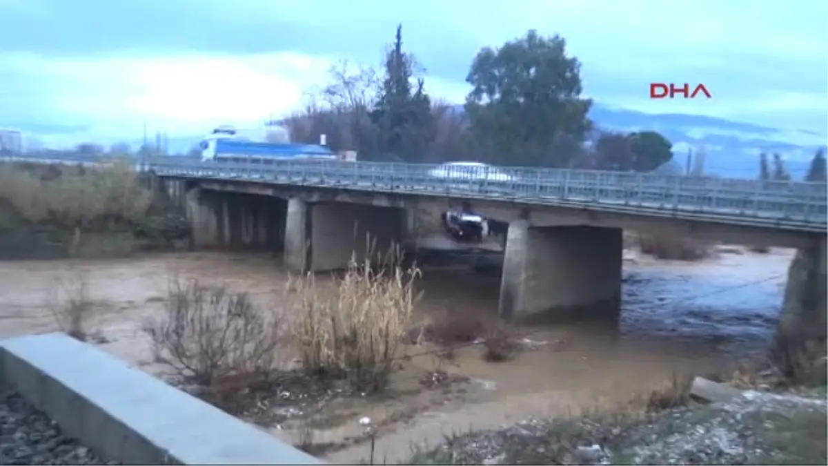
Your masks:
<path fill-rule="evenodd" d="M 22 396 L 0 395 L 0 464 L 118 464 L 60 432 Z"/>

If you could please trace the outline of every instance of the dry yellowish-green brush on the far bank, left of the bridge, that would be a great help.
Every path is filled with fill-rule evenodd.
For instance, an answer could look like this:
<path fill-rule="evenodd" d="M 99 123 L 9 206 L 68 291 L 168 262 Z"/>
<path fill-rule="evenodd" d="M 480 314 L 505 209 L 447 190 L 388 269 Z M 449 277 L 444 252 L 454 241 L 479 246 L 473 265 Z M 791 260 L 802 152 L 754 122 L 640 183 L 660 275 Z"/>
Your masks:
<path fill-rule="evenodd" d="M 41 167 L 42 168 L 42 167 Z M 141 221 L 151 196 L 127 162 L 107 167 L 54 167 L 36 170 L 0 165 L 0 199 L 27 221 L 56 221 L 84 228 L 107 217 Z"/>

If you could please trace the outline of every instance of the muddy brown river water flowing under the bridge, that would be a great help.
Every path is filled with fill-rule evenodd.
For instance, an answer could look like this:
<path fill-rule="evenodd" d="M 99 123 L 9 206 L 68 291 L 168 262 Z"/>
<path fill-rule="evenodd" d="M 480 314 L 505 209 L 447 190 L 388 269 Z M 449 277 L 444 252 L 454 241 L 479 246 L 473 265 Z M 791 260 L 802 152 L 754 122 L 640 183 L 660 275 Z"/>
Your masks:
<path fill-rule="evenodd" d="M 364 459 L 357 421 L 379 425 L 377 458 L 405 459 L 412 443 L 434 444 L 450 431 L 482 429 L 541 415 L 566 415 L 614 405 L 666 383 L 676 372 L 704 372 L 724 360 L 762 352 L 781 303 L 792 252 L 721 254 L 700 263 L 625 261 L 620 328 L 587 324 L 522 328 L 532 350 L 503 363 L 484 362 L 479 347 L 460 349 L 446 362 L 433 353 L 403 364 L 383 399 L 331 400 L 315 415 L 314 441 L 342 444 L 332 462 Z M 0 336 L 55 329 L 50 307 L 82 270 L 95 303 L 90 328 L 99 346 L 153 373 L 147 338 L 140 330 L 163 308 L 172 275 L 224 281 L 274 305 L 287 274 L 266 254 L 186 253 L 128 260 L 17 261 L 0 263 Z M 55 281 L 57 280 L 57 281 Z M 55 284 L 60 286 L 55 287 Z M 445 308 L 495 313 L 498 279 L 457 269 L 426 269 L 418 317 Z M 429 347 L 408 347 L 418 354 Z M 426 389 L 421 381 L 446 371 L 461 382 Z M 295 422 L 269 428 L 296 441 Z M 349 440 L 348 440 L 349 439 Z"/>

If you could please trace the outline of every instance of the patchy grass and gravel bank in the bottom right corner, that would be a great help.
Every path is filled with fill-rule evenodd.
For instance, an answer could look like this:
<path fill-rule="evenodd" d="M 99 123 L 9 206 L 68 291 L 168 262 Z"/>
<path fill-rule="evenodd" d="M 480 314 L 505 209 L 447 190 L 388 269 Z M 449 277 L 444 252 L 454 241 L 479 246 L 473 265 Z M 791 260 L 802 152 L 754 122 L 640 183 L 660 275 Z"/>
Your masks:
<path fill-rule="evenodd" d="M 748 391 L 634 422 L 530 420 L 473 432 L 411 464 L 828 464 L 825 394 Z"/>

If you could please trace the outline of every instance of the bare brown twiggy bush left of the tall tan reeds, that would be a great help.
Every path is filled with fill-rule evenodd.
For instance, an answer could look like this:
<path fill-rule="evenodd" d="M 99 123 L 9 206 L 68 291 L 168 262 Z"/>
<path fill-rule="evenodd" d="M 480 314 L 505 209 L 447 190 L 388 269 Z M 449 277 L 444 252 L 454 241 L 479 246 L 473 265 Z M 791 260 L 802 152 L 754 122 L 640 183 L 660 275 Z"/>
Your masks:
<path fill-rule="evenodd" d="M 262 312 L 248 294 L 231 294 L 195 279 L 171 279 L 165 311 L 143 330 L 152 338 L 157 358 L 181 376 L 238 391 L 269 381 L 277 370 L 281 313 Z"/>

